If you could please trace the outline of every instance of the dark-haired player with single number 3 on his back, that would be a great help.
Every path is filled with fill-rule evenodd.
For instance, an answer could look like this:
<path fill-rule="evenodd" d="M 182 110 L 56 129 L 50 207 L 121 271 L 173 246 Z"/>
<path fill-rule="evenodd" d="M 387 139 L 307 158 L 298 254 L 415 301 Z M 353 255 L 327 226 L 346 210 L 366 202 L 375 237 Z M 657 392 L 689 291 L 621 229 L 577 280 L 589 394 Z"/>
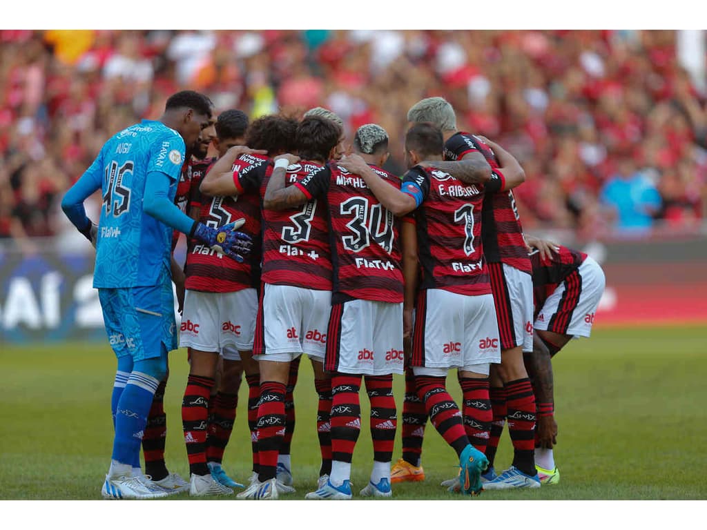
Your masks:
<path fill-rule="evenodd" d="M 309 117 L 300 122 L 295 143 L 305 160 L 291 167 L 288 184 L 298 183 L 310 171 L 324 166 L 340 134 L 339 126 L 327 119 Z M 290 160 L 298 157 L 288 155 L 277 165 L 288 167 Z M 260 369 L 258 477 L 238 494 L 250 499 L 278 497 L 276 470 L 285 435 L 285 396 L 291 361 L 307 353 L 310 359 L 323 362 L 331 307 L 332 262 L 325 208 L 318 201 L 305 202 L 295 209 L 271 200 L 268 189 L 276 184 L 280 184 L 276 189 L 284 186 L 284 175 L 279 176 L 280 183 L 273 178 L 267 174 L 261 186 L 263 285 L 253 348 Z"/>

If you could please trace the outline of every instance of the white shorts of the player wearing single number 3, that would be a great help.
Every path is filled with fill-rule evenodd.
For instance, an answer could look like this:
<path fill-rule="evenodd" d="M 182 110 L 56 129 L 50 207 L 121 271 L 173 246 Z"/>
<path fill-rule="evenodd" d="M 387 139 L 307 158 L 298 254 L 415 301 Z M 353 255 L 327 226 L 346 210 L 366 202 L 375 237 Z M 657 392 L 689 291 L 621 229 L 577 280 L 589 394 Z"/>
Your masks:
<path fill-rule="evenodd" d="M 323 361 L 332 292 L 263 284 L 255 331 L 255 360 L 288 361 L 306 353 Z"/>

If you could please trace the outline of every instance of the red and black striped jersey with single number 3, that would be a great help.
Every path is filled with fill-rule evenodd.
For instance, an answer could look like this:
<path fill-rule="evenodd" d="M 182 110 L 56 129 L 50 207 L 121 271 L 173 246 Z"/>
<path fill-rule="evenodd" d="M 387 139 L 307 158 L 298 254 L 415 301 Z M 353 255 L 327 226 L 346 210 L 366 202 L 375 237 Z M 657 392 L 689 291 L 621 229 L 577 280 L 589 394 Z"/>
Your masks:
<path fill-rule="evenodd" d="M 285 186 L 301 184 L 310 173 L 324 165 L 308 160 L 290 165 Z M 272 166 L 260 187 L 260 196 L 272 173 Z M 263 271 L 262 281 L 271 285 L 293 285 L 315 290 L 332 290 L 332 253 L 329 249 L 325 200 L 313 198 L 296 209 L 267 210 L 263 208 Z"/>

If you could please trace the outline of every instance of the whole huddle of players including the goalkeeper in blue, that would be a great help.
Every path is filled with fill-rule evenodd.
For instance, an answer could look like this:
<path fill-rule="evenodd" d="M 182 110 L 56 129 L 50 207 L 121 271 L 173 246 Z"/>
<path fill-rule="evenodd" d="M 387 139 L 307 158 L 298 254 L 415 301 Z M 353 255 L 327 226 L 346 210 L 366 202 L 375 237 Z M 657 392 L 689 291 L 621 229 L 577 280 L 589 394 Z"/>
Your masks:
<path fill-rule="evenodd" d="M 98 288 L 117 356 L 115 437 L 106 498 L 293 493 L 293 389 L 314 372 L 321 466 L 306 499 L 351 499 L 370 401 L 373 465 L 362 497 L 424 480 L 425 425 L 455 451 L 451 492 L 559 482 L 551 357 L 590 335 L 604 290 L 582 252 L 524 235 L 513 199 L 525 173 L 497 143 L 457 130 L 443 98 L 410 108 L 404 175 L 382 167 L 389 138 L 322 107 L 301 119 L 214 119 L 206 96 L 170 97 L 163 117 L 112 137 L 62 208 L 96 248 Z M 214 159 L 206 153 L 213 143 Z M 98 225 L 83 201 L 103 193 Z M 187 235 L 187 259 L 172 251 Z M 189 481 L 165 466 L 168 351 L 177 348 L 173 282 L 189 352 L 182 425 Z M 457 370 L 459 406 L 446 379 Z M 252 475 L 221 466 L 243 372 Z M 393 375 L 404 374 L 402 457 Z M 513 462 L 496 473 L 504 425 Z M 312 426 L 313 428 L 313 426 Z M 140 465 L 144 451 L 145 472 Z"/>

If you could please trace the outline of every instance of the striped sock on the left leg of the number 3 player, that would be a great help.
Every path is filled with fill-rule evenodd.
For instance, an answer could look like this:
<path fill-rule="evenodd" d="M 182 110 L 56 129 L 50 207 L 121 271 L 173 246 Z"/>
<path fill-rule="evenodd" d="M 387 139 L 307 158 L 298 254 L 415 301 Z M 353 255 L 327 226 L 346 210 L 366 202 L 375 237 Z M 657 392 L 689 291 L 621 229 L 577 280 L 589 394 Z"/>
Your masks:
<path fill-rule="evenodd" d="M 258 480 L 275 478 L 277 456 L 285 435 L 284 383 L 264 381 L 260 383 L 260 406 L 257 416 Z"/>

